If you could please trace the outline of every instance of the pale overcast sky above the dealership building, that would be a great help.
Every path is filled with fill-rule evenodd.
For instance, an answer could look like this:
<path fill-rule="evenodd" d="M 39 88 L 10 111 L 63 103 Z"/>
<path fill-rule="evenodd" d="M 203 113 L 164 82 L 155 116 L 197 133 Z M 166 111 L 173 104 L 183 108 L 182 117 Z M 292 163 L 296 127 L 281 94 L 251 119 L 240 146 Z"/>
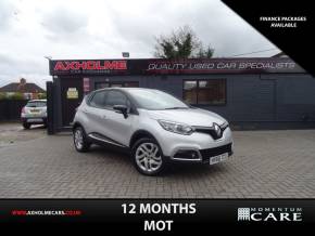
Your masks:
<path fill-rule="evenodd" d="M 155 37 L 189 25 L 215 57 L 279 50 L 219 0 L 0 0 L 0 87 L 45 88 L 48 61 L 153 57 Z"/>

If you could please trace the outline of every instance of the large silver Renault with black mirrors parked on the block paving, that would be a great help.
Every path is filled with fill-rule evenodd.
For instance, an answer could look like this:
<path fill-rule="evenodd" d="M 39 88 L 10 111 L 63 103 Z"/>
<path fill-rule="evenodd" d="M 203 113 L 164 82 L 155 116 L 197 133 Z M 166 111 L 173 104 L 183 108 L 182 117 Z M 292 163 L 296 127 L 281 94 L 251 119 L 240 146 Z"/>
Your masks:
<path fill-rule="evenodd" d="M 232 154 L 228 122 L 153 89 L 108 88 L 86 95 L 73 122 L 74 145 L 128 152 L 135 167 L 155 175 L 172 161 L 214 165 Z"/>

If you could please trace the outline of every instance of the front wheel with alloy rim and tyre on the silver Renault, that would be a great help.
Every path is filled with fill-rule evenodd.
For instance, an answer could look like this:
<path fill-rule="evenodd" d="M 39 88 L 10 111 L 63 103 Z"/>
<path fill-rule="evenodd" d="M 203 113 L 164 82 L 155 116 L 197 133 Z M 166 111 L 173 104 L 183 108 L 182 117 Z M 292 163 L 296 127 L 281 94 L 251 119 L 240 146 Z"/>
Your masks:
<path fill-rule="evenodd" d="M 151 137 L 143 137 L 135 143 L 131 158 L 136 169 L 144 175 L 162 173 L 167 165 L 160 145 Z"/>

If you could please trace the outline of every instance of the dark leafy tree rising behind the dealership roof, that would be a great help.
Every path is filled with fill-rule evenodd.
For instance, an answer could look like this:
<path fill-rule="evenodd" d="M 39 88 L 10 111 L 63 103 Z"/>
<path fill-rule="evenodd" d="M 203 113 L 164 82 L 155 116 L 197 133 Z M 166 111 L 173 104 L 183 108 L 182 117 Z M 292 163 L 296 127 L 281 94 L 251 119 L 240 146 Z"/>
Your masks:
<path fill-rule="evenodd" d="M 179 58 L 211 58 L 214 50 L 207 45 L 203 47 L 200 39 L 189 26 L 178 28 L 168 36 L 155 38 L 154 56 L 179 60 Z"/>

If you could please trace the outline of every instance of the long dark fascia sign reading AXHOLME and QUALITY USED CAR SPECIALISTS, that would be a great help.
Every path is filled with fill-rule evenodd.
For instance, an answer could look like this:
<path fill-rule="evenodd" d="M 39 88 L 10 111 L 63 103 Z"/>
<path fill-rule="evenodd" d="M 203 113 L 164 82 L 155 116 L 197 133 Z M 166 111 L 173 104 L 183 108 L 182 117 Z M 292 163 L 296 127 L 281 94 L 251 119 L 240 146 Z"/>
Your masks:
<path fill-rule="evenodd" d="M 290 58 L 213 58 L 213 60 L 75 60 L 51 61 L 51 75 L 113 74 L 249 74 L 303 73 Z"/>

